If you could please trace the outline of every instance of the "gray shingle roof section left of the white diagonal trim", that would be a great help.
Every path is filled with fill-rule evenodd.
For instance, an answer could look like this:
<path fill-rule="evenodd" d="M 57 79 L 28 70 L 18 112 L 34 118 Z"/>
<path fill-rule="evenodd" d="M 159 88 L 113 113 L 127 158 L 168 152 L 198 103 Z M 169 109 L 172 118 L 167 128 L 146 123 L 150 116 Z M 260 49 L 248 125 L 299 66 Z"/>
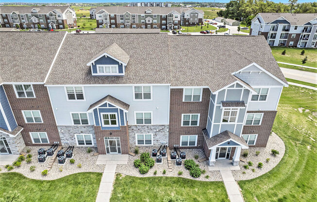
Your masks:
<path fill-rule="evenodd" d="M 0 32 L 0 84 L 44 83 L 65 32 Z M 1 81 L 2 80 L 2 81 Z"/>

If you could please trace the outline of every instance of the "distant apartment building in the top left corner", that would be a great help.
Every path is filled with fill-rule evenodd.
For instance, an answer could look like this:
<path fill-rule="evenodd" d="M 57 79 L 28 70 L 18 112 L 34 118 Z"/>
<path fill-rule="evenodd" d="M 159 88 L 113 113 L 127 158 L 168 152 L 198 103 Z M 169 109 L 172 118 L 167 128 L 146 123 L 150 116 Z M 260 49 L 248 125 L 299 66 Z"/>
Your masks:
<path fill-rule="evenodd" d="M 76 13 L 68 6 L 0 6 L 1 27 L 64 29 L 76 23 Z"/>

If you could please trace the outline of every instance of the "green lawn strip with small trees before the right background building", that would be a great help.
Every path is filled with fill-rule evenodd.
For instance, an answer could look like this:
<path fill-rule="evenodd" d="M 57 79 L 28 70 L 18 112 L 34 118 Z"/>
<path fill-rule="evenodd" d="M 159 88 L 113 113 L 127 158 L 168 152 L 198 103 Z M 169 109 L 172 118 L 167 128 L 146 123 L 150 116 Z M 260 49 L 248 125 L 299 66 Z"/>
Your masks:
<path fill-rule="evenodd" d="M 302 65 L 301 60 L 307 55 L 307 63 L 304 66 L 317 67 L 317 49 L 305 49 L 305 54 L 301 55 L 303 49 L 287 48 L 287 47 L 271 47 L 272 54 L 276 61 Z M 286 49 L 286 54 L 282 55 L 282 51 Z"/>

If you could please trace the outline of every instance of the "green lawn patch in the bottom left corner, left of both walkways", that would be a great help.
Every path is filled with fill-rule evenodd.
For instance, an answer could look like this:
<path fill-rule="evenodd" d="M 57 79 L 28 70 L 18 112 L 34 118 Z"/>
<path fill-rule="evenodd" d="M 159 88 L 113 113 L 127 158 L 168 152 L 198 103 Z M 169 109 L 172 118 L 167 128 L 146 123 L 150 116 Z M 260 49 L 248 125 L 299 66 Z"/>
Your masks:
<path fill-rule="evenodd" d="M 18 191 L 26 202 L 94 202 L 101 177 L 99 172 L 82 172 L 46 181 L 17 172 L 0 173 L 0 198 L 11 190 Z"/>

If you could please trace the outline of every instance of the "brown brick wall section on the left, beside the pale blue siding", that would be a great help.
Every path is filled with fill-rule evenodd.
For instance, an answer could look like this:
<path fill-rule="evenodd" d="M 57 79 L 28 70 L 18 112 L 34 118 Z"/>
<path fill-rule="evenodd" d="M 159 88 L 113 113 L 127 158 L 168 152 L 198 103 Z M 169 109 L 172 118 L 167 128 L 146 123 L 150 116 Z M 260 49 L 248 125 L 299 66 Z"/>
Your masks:
<path fill-rule="evenodd" d="M 17 98 L 12 85 L 3 85 L 3 87 L 17 123 L 23 127 L 21 135 L 26 146 L 48 146 L 53 142 L 61 142 L 49 94 L 44 85 L 33 85 L 35 98 Z M 25 123 L 22 110 L 39 110 L 43 123 Z M 30 132 L 46 132 L 50 143 L 33 144 Z"/>

